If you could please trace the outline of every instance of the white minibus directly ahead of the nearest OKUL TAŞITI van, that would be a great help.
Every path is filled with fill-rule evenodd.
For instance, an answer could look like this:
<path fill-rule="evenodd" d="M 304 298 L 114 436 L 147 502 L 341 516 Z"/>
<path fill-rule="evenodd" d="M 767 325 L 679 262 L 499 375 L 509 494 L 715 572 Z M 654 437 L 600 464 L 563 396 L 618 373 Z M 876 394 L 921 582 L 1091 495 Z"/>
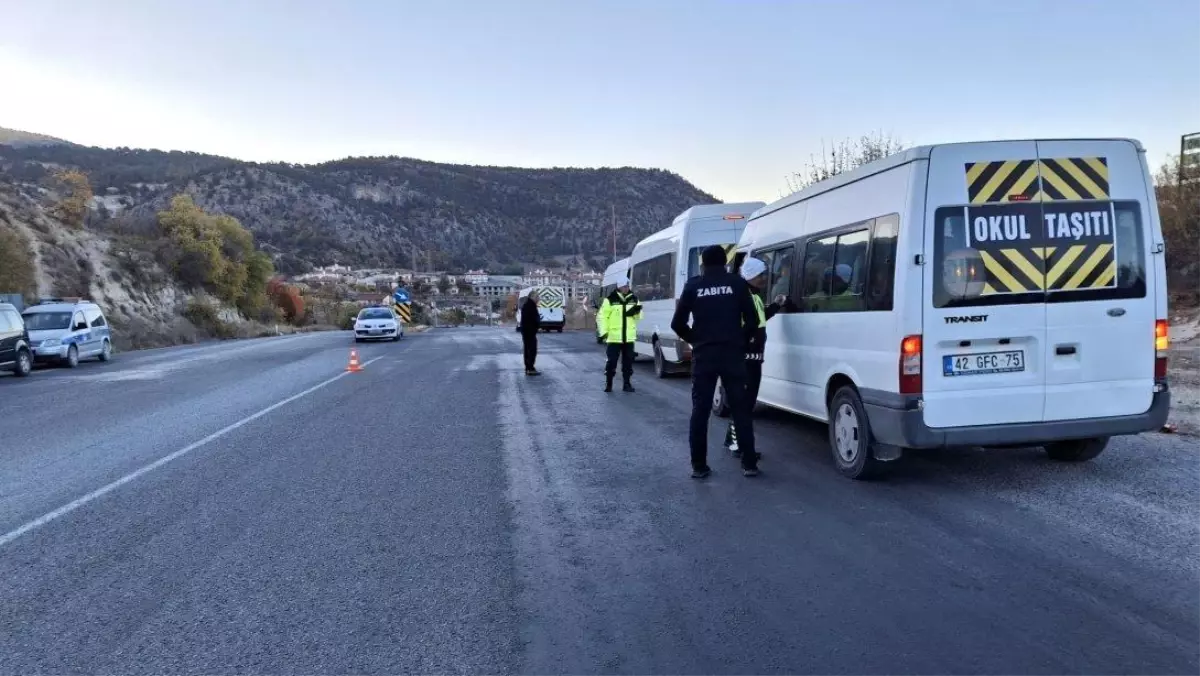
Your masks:
<path fill-rule="evenodd" d="M 654 358 L 660 378 L 690 367 L 691 351 L 671 330 L 671 317 L 683 285 L 700 274 L 701 252 L 714 244 L 732 252 L 746 219 L 761 207 L 762 202 L 692 207 L 634 247 L 631 288 L 642 303 L 635 351 Z"/>

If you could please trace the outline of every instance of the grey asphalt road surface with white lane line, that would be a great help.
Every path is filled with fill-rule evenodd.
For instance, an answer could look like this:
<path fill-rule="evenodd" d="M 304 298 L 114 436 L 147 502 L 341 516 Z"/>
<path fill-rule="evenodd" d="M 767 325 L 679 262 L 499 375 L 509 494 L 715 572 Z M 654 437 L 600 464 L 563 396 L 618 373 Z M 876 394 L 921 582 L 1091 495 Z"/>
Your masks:
<path fill-rule="evenodd" d="M 0 377 L 0 675 L 1200 672 L 1200 444 L 842 479 L 761 414 L 688 478 L 688 381 L 511 329 Z"/>

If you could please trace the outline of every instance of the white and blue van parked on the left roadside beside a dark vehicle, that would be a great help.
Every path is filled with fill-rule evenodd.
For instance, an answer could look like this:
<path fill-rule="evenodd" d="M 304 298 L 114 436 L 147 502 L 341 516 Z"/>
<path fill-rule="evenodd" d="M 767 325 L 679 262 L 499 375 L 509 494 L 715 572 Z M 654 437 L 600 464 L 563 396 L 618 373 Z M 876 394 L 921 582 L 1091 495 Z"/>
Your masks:
<path fill-rule="evenodd" d="M 48 298 L 22 313 L 34 359 L 76 367 L 80 359 L 113 358 L 113 331 L 90 300 Z"/>

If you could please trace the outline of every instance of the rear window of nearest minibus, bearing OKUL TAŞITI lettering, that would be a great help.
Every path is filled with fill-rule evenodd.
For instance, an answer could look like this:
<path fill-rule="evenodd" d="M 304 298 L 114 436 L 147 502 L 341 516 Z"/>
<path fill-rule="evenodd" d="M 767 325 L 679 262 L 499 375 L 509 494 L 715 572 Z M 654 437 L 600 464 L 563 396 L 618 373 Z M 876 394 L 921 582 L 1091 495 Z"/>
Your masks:
<path fill-rule="evenodd" d="M 942 207 L 934 228 L 935 307 L 1146 295 L 1136 202 Z"/>

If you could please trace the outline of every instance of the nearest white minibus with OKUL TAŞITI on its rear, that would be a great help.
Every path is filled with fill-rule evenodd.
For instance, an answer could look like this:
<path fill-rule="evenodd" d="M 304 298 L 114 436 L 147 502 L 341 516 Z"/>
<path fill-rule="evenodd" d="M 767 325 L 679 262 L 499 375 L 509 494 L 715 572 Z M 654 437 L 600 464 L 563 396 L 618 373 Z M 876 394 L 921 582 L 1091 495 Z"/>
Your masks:
<path fill-rule="evenodd" d="M 744 255 L 796 305 L 768 322 L 758 401 L 828 421 L 851 478 L 906 448 L 1091 460 L 1166 421 L 1163 234 L 1135 140 L 913 148 L 758 210 Z"/>

